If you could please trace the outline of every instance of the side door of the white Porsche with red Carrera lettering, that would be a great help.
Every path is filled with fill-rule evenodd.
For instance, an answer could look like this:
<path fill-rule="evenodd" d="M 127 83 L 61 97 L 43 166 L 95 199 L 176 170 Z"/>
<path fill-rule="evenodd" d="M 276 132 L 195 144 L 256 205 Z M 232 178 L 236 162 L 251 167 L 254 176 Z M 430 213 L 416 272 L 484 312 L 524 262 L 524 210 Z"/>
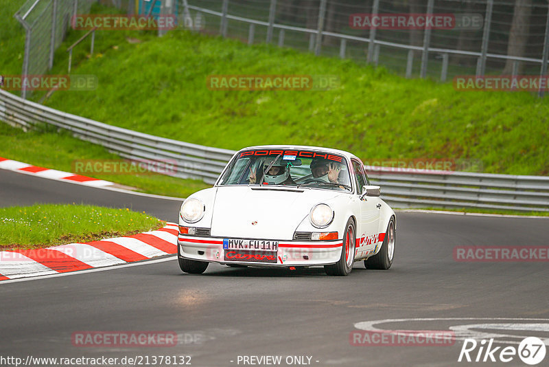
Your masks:
<path fill-rule="evenodd" d="M 362 197 L 362 187 L 369 185 L 364 165 L 357 159 L 351 160 L 353 164 L 353 175 L 358 187 L 356 200 L 359 201 L 360 216 L 357 223 L 357 257 L 361 258 L 369 254 L 377 245 L 377 236 L 379 235 L 379 197 Z M 361 199 L 362 197 L 362 199 Z"/>

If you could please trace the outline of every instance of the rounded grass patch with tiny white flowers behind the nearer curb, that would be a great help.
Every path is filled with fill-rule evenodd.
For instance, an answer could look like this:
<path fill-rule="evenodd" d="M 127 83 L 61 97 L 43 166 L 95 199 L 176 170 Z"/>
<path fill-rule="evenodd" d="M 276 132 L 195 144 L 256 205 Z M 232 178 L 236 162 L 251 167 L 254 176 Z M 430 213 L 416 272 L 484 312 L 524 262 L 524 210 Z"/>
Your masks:
<path fill-rule="evenodd" d="M 97 241 L 157 230 L 165 222 L 128 208 L 37 204 L 0 208 L 1 249 Z"/>

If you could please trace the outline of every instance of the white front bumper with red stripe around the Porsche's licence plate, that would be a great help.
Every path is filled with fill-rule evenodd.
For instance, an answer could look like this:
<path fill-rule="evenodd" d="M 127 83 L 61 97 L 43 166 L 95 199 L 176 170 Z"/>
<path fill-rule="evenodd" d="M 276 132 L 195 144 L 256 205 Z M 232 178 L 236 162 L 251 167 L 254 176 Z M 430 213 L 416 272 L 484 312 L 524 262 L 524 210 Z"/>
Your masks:
<path fill-rule="evenodd" d="M 270 260 L 238 260 L 235 250 L 223 249 L 223 237 L 199 237 L 179 234 L 179 256 L 189 260 L 211 263 L 257 265 L 267 267 L 316 266 L 337 263 L 341 256 L 342 240 L 334 241 L 279 241 L 277 252 L 268 253 Z M 237 251 L 238 252 L 238 251 Z M 244 250 L 243 252 L 246 252 Z M 261 258 L 265 252 L 255 252 Z"/>

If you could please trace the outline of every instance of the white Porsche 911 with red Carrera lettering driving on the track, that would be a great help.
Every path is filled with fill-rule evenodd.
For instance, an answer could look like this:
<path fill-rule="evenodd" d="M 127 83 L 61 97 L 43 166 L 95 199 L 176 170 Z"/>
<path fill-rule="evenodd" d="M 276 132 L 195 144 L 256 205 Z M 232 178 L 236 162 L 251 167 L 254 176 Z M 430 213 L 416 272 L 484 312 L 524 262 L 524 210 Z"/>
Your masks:
<path fill-rule="evenodd" d="M 253 146 L 233 155 L 213 188 L 181 205 L 178 260 L 200 274 L 229 266 L 388 269 L 395 212 L 351 153 L 312 146 Z"/>

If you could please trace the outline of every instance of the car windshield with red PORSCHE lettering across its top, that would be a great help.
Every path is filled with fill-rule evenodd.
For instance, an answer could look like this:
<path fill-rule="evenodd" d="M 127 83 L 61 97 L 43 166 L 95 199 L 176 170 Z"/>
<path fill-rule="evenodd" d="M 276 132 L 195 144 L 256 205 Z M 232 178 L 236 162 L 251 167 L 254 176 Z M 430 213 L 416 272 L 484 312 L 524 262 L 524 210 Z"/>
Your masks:
<path fill-rule="evenodd" d="M 218 185 L 271 185 L 351 191 L 341 155 L 314 150 L 250 150 L 233 158 Z"/>

